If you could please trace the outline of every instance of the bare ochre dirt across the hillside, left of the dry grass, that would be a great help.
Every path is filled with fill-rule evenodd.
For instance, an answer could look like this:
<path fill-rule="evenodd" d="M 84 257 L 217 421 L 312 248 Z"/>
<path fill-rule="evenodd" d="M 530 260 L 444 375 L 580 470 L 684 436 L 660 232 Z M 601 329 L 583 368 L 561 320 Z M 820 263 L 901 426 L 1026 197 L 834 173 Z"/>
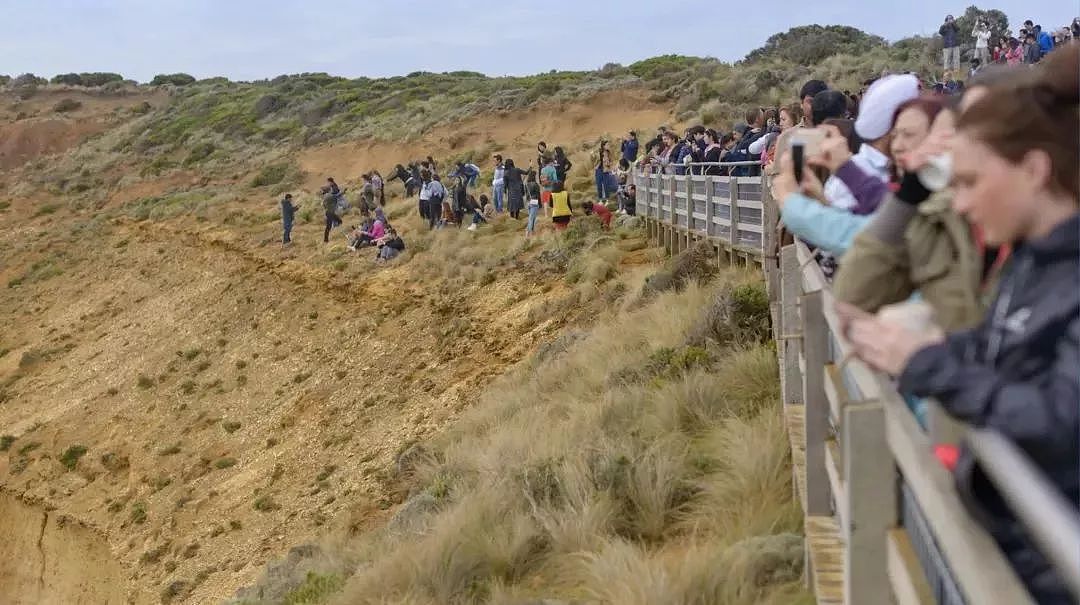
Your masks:
<path fill-rule="evenodd" d="M 580 135 L 553 108 L 462 132 L 531 148 L 549 127 L 573 144 L 665 113 L 625 95 L 597 104 L 611 116 L 563 110 L 583 117 Z M 432 135 L 431 150 L 338 147 L 301 161 L 312 175 L 383 170 L 437 156 L 453 134 Z M 166 174 L 140 186 L 194 184 Z M 275 202 L 245 180 L 227 187 L 233 201 L 202 219 L 135 221 L 44 191 L 0 207 L 13 226 L 0 234 L 0 435 L 15 438 L 0 444 L 0 487 L 35 502 L 28 519 L 84 526 L 72 552 L 102 560 L 103 578 L 119 569 L 87 584 L 86 567 L 65 561 L 46 583 L 76 592 L 24 593 L 35 576 L 0 565 L 0 593 L 211 603 L 325 524 L 381 523 L 401 498 L 387 478 L 395 455 L 582 312 L 562 273 L 521 246 L 521 224 L 446 233 L 376 270 L 340 233 L 324 247 L 316 220 L 301 219 L 282 252 Z M 411 202 L 394 209 L 418 242 Z"/>

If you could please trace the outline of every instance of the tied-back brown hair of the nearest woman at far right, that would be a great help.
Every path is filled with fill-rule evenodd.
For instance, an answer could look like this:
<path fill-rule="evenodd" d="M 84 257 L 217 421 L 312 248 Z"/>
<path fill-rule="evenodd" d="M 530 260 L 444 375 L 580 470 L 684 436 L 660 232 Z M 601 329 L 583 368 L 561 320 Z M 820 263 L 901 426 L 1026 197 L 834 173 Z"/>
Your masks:
<path fill-rule="evenodd" d="M 1044 150 L 1051 187 L 1080 200 L 1080 44 L 1062 46 L 1035 69 L 1034 78 L 989 86 L 990 94 L 969 107 L 957 127 L 1010 162 Z"/>

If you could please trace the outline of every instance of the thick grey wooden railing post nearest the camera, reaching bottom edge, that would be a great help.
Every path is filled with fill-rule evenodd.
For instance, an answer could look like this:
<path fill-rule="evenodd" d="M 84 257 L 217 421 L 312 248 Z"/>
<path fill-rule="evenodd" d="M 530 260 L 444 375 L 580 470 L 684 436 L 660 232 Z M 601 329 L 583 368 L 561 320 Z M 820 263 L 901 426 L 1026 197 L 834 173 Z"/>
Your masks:
<path fill-rule="evenodd" d="M 845 502 L 840 519 L 843 602 L 893 603 L 889 582 L 888 532 L 896 525 L 896 468 L 887 443 L 885 407 L 848 404 L 840 422 Z"/>

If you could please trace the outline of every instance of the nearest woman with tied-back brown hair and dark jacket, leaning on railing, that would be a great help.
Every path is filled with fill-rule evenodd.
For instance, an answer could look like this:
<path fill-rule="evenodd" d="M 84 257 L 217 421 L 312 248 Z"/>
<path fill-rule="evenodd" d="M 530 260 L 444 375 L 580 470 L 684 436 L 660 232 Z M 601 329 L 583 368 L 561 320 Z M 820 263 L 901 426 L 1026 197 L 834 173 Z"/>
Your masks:
<path fill-rule="evenodd" d="M 1013 257 L 984 321 L 946 336 L 837 305 L 855 355 L 1014 442 L 1080 500 L 1080 45 L 1031 78 L 990 86 L 960 116 L 953 206 Z M 958 490 L 1039 603 L 1072 603 L 1057 573 L 969 448 Z M 1065 570 L 1071 573 L 1072 570 Z"/>

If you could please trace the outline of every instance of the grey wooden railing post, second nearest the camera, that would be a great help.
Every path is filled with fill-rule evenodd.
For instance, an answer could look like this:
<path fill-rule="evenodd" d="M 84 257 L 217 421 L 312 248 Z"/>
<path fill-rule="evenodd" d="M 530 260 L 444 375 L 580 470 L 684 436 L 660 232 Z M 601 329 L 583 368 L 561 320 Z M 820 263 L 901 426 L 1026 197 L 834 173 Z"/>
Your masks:
<path fill-rule="evenodd" d="M 825 470 L 825 441 L 828 439 L 828 399 L 825 394 L 825 363 L 828 361 L 828 325 L 822 293 L 802 296 L 802 402 L 807 438 L 807 514 L 833 513 L 828 473 Z"/>

